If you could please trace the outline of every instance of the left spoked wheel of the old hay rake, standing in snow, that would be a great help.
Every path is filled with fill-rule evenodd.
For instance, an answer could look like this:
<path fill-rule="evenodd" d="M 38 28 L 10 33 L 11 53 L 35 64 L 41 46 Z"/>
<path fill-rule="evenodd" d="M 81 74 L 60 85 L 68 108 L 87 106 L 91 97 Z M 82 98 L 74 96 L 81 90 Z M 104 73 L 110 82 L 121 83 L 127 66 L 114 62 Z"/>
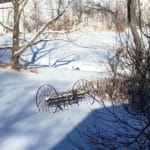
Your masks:
<path fill-rule="evenodd" d="M 42 85 L 36 93 L 36 105 L 41 111 L 55 113 L 57 106 L 51 103 L 50 99 L 57 99 L 58 93 L 51 85 Z"/>

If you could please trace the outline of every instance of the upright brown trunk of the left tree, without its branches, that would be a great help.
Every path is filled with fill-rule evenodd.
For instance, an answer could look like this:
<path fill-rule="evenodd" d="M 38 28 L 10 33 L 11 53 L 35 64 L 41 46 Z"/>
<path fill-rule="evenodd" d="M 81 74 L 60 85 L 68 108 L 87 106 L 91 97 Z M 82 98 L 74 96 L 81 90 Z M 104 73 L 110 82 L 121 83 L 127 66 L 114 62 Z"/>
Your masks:
<path fill-rule="evenodd" d="M 21 65 L 19 63 L 19 55 L 14 55 L 19 50 L 19 2 L 18 0 L 13 1 L 14 5 L 14 27 L 13 27 L 13 46 L 12 46 L 12 68 L 19 70 Z"/>

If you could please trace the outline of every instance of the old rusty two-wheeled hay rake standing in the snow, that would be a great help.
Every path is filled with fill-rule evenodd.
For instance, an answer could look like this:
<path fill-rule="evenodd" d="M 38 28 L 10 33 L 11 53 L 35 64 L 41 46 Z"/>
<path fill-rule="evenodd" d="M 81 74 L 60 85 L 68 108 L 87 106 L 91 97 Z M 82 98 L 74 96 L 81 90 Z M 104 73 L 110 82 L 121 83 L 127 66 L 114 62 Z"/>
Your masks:
<path fill-rule="evenodd" d="M 75 82 L 72 90 L 59 93 L 51 85 L 42 85 L 36 93 L 36 105 L 39 111 L 55 113 L 74 103 L 79 105 L 79 101 L 83 100 L 85 95 L 92 98 L 90 102 L 90 104 L 92 104 L 94 102 L 94 94 L 92 83 L 85 79 Z M 85 101 L 87 102 L 88 100 L 85 99 Z"/>

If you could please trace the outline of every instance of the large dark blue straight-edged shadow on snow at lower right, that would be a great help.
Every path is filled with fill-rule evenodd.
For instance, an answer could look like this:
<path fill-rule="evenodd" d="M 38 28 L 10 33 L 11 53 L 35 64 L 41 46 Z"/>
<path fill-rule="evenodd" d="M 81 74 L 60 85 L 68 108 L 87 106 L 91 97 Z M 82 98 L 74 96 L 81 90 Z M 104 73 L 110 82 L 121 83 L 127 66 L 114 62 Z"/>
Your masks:
<path fill-rule="evenodd" d="M 124 140 L 122 135 L 133 132 L 126 124 L 119 122 L 119 118 L 137 125 L 135 118 L 129 116 L 122 105 L 95 109 L 51 150 L 115 149 L 118 142 Z M 120 139 L 119 136 L 117 139 L 117 134 L 121 135 Z"/>

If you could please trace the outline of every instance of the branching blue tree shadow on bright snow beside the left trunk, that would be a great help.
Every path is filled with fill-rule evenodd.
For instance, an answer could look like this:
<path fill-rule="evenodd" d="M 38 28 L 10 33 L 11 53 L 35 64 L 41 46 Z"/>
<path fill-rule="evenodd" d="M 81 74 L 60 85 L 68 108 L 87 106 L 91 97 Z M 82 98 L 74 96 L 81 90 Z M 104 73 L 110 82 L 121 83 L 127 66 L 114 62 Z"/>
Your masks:
<path fill-rule="evenodd" d="M 68 43 L 64 45 L 60 45 L 59 42 L 53 43 L 50 45 L 49 41 L 41 41 L 36 45 L 33 45 L 29 48 L 29 52 L 25 52 L 20 56 L 20 61 L 26 67 L 34 67 L 34 68 L 42 68 L 42 67 L 59 67 L 63 65 L 67 65 L 71 62 L 79 60 L 77 55 L 74 56 L 63 56 L 57 58 L 53 58 L 53 53 L 56 50 L 60 51 L 60 48 L 67 46 Z M 58 52 L 59 53 L 59 52 Z M 46 62 L 42 62 L 46 61 Z M 41 63 L 42 62 L 42 63 Z"/>

